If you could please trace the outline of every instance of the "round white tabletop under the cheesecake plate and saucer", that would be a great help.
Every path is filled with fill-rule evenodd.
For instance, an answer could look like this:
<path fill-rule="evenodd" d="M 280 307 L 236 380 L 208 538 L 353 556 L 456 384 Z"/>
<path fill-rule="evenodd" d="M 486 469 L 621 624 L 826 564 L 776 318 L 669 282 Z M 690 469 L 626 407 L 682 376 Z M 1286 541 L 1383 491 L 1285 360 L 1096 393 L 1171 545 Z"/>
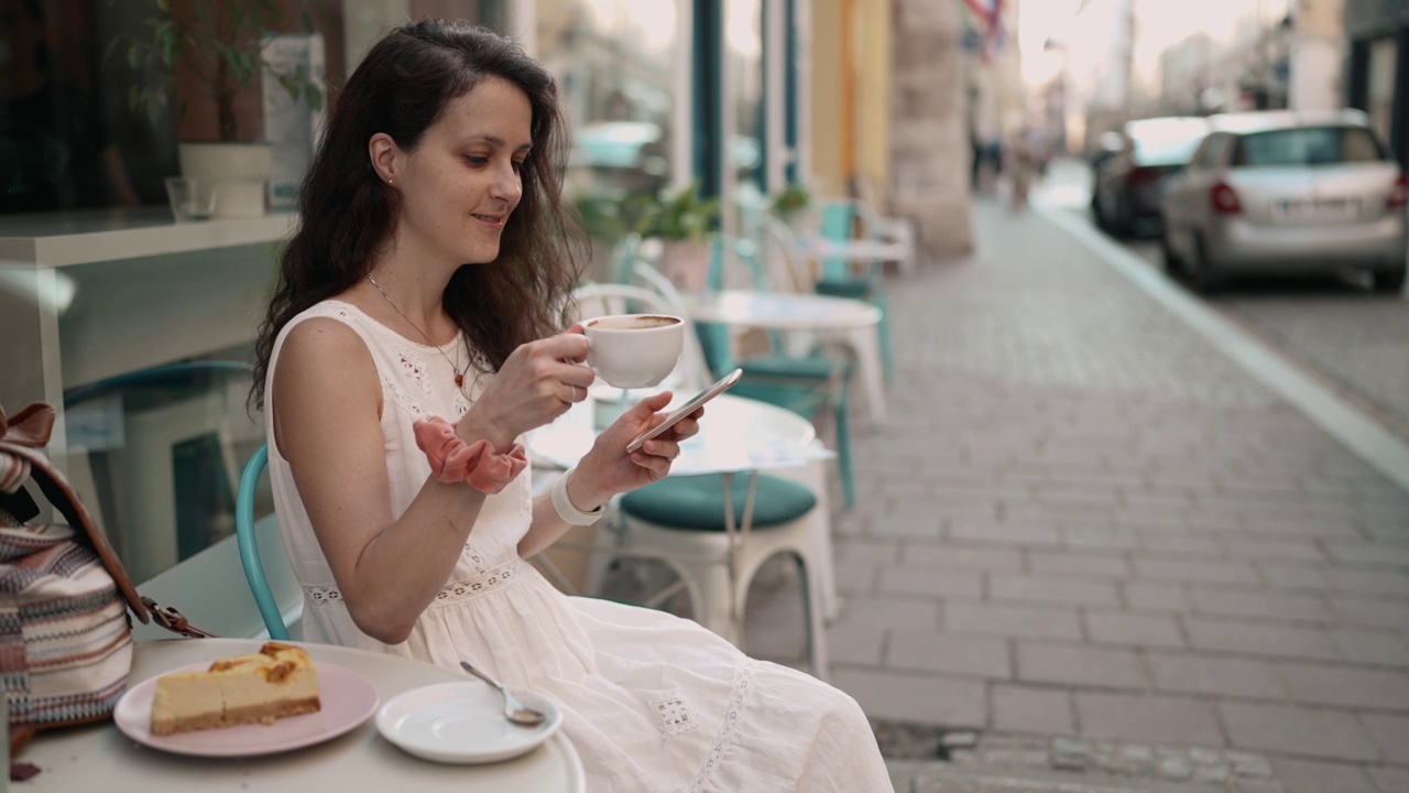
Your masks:
<path fill-rule="evenodd" d="M 259 639 L 165 639 L 138 642 L 131 684 L 172 669 L 256 652 Z M 335 663 L 372 682 L 379 706 L 420 686 L 462 682 L 451 670 L 392 655 L 294 642 L 314 660 Z M 455 790 L 459 793 L 583 793 L 578 753 L 558 732 L 524 756 L 489 765 L 441 765 L 417 759 L 387 742 L 375 714 L 361 727 L 323 744 L 249 758 L 194 758 L 137 744 L 111 722 L 39 732 L 17 762 L 41 772 L 14 783 L 17 792 L 186 793 L 230 790 L 321 793 L 344 790 Z"/>

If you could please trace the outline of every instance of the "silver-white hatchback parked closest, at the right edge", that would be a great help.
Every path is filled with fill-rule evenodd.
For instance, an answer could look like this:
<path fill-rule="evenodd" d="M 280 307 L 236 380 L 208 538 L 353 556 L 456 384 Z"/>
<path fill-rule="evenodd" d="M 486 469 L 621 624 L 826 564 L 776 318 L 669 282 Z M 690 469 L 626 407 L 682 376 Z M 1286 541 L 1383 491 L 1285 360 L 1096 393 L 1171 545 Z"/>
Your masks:
<path fill-rule="evenodd" d="M 1365 114 L 1237 113 L 1167 185 L 1165 268 L 1212 291 L 1239 274 L 1370 272 L 1405 282 L 1405 172 Z"/>

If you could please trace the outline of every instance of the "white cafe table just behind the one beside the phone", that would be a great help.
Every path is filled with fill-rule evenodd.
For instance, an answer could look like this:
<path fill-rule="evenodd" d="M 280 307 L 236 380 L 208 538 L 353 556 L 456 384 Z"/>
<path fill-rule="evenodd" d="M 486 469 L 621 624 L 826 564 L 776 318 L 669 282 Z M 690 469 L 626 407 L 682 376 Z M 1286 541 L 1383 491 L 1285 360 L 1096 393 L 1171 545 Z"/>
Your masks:
<path fill-rule="evenodd" d="M 871 420 L 885 422 L 879 308 L 862 301 L 802 292 L 724 289 L 683 296 L 695 322 L 841 336 L 857 351 L 857 374 L 861 375 Z"/>

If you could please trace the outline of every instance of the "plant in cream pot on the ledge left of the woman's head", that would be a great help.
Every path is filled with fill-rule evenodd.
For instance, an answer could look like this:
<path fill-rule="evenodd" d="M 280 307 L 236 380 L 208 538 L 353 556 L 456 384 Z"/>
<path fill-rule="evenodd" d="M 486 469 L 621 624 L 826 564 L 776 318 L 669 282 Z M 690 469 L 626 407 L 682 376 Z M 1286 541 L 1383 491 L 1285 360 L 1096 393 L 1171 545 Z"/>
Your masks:
<path fill-rule="evenodd" d="M 111 0 L 110 0 L 111 1 Z M 323 73 L 266 58 L 266 37 L 287 30 L 287 3 L 278 0 L 148 0 L 148 35 L 121 35 L 110 55 L 121 54 L 135 80 L 128 106 L 156 124 L 175 106 L 185 123 L 193 104 L 214 114 L 214 141 L 182 141 L 179 159 L 187 179 L 218 190 L 217 216 L 263 214 L 272 147 L 262 143 L 258 117 L 240 113 L 241 99 L 268 75 L 289 99 L 310 111 L 323 109 Z M 303 28 L 313 20 L 300 11 Z M 178 79 L 179 76 L 185 79 Z M 178 96 L 178 83 L 196 96 Z"/>

